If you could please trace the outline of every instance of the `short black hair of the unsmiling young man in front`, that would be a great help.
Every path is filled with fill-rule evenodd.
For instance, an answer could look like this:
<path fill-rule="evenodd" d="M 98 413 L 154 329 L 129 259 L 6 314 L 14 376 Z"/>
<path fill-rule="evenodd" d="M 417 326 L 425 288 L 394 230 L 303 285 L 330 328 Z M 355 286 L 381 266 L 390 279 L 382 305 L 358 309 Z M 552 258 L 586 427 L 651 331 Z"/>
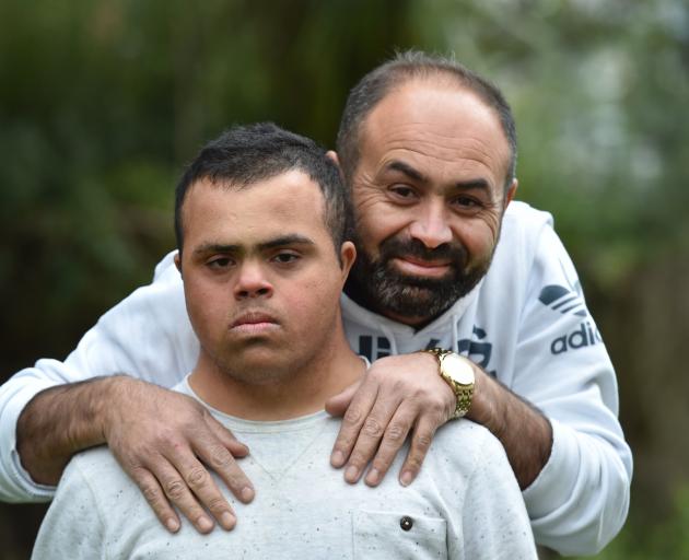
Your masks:
<path fill-rule="evenodd" d="M 351 202 L 337 164 L 313 140 L 272 122 L 235 126 L 207 143 L 187 166 L 175 191 L 175 235 L 182 254 L 182 207 L 189 187 L 201 179 L 244 188 L 292 170 L 304 172 L 324 198 L 324 222 L 339 248 L 349 237 Z"/>

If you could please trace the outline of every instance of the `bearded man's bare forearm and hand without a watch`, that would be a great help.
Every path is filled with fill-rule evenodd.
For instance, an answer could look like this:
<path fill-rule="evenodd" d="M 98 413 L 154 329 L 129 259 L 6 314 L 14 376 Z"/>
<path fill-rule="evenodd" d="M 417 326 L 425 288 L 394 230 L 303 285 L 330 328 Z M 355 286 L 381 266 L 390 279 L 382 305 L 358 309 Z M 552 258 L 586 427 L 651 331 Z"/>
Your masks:
<path fill-rule="evenodd" d="M 175 505 L 199 533 L 236 518 L 209 469 L 242 502 L 254 488 L 234 457 L 248 448 L 195 399 L 126 376 L 46 389 L 17 422 L 17 450 L 37 482 L 57 483 L 70 457 L 107 443 L 161 523 L 179 529 Z M 209 513 L 212 515 L 209 515 Z"/>

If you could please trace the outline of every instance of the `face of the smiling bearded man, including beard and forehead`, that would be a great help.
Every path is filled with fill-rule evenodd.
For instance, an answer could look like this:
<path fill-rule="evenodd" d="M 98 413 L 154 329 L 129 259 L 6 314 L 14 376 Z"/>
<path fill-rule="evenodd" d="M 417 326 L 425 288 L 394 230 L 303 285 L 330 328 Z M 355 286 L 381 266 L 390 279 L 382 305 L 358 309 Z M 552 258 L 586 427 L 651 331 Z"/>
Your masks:
<path fill-rule="evenodd" d="M 366 305 L 421 325 L 486 275 L 502 213 L 510 149 L 498 116 L 475 94 L 412 81 L 371 112 L 352 177 Z"/>

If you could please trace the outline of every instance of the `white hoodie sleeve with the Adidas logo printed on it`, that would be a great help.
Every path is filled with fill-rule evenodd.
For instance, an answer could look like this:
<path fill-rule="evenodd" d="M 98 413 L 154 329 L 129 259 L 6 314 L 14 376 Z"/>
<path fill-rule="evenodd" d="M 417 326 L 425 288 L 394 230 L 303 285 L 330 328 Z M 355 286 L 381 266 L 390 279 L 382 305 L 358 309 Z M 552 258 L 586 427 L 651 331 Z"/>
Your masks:
<path fill-rule="evenodd" d="M 592 555 L 622 527 L 632 474 L 615 371 L 574 266 L 550 224 L 535 242 L 512 389 L 552 425 L 550 458 L 523 492 L 537 542 Z"/>

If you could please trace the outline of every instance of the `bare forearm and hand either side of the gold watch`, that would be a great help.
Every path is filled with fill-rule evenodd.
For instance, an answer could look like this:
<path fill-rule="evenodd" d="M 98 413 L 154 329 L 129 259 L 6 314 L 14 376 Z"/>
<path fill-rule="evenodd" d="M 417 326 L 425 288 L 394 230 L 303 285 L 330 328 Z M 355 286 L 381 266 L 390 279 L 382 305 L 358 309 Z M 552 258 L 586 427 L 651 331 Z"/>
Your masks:
<path fill-rule="evenodd" d="M 475 363 L 471 365 L 476 388 L 467 418 L 486 425 L 501 441 L 519 486 L 526 488 L 550 456 L 550 423 L 527 401 Z M 350 393 L 353 389 L 358 390 L 357 397 L 344 412 L 332 465 L 340 467 L 347 463 L 344 478 L 355 482 L 373 458 L 365 481 L 375 486 L 411 433 L 410 451 L 400 470 L 400 481 L 411 483 L 435 430 L 451 418 L 455 408 L 455 397 L 440 377 L 437 362 L 424 352 L 383 358 Z M 350 393 L 331 399 L 328 410 L 339 412 L 351 398 Z"/>

